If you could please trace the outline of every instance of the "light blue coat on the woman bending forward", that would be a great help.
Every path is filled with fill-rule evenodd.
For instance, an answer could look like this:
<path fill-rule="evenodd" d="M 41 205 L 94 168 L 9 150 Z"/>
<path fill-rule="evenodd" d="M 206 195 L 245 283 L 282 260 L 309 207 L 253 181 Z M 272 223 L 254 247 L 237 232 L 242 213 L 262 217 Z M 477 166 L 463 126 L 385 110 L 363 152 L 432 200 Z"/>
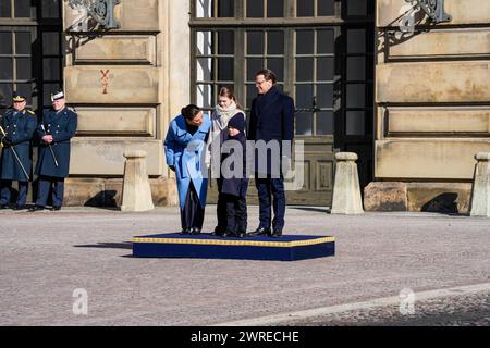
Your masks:
<path fill-rule="evenodd" d="M 183 115 L 176 116 L 170 123 L 164 140 L 167 165 L 175 166 L 181 210 L 184 209 L 191 181 L 196 188 L 201 208 L 206 207 L 208 192 L 208 170 L 204 163 L 211 120 L 205 115 L 203 124 L 194 135 L 187 132 L 186 125 Z"/>

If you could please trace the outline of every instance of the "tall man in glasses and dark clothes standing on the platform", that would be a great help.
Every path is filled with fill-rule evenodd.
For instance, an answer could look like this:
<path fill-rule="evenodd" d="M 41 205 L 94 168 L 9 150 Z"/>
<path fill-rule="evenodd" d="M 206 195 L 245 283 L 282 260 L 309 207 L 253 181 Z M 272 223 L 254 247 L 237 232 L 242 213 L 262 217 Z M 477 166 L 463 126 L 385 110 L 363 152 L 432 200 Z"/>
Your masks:
<path fill-rule="evenodd" d="M 294 138 L 294 101 L 282 94 L 275 83 L 275 75 L 270 70 L 261 70 L 256 74 L 255 85 L 258 96 L 252 101 L 248 139 L 256 141 L 255 183 L 259 196 L 260 224 L 250 234 L 253 236 L 280 237 L 284 227 L 285 194 L 281 169 L 282 157 L 291 153 L 290 149 L 283 151 L 283 141 L 287 140 L 291 145 Z M 262 145 L 277 142 L 280 149 L 279 157 L 269 152 L 259 152 L 258 141 Z M 265 161 L 259 158 L 264 156 L 266 156 Z M 266 164 L 260 165 L 260 163 Z M 271 206 L 274 212 L 272 221 Z"/>

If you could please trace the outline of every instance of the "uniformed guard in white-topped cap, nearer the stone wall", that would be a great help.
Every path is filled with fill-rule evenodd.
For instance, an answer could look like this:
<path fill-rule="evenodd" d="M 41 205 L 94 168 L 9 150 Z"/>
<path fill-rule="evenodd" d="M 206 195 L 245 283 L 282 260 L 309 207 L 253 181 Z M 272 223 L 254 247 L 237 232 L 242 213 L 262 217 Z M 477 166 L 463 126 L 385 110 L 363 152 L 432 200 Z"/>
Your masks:
<path fill-rule="evenodd" d="M 60 210 L 63 204 L 64 178 L 70 172 L 70 140 L 75 136 L 76 113 L 66 108 L 63 91 L 51 95 L 52 108 L 46 110 L 36 135 L 40 139 L 36 175 L 39 176 L 38 197 L 30 212 L 44 210 L 52 187 L 52 208 Z"/>

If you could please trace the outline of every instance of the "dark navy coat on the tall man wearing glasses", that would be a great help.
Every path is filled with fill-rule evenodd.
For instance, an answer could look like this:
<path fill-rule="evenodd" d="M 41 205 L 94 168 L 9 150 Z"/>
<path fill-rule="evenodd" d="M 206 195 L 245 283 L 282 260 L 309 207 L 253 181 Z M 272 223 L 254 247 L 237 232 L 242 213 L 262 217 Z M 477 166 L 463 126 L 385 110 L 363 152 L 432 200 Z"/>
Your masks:
<path fill-rule="evenodd" d="M 267 94 L 258 96 L 252 101 L 248 139 L 255 141 L 264 140 L 266 142 L 270 140 L 293 141 L 294 112 L 293 98 L 285 96 L 273 86 Z M 268 156 L 267 169 L 258 171 L 257 153 L 255 154 L 256 172 L 274 173 L 271 170 L 271 163 L 273 162 Z"/>

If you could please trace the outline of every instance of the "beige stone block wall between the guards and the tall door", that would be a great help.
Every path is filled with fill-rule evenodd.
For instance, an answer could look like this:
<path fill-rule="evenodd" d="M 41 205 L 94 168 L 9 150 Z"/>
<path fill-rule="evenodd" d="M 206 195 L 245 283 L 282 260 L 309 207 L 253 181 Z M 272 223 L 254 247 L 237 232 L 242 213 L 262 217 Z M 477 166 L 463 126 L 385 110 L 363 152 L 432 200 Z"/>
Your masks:
<path fill-rule="evenodd" d="M 162 196 L 155 201 L 174 203 L 162 139 L 189 101 L 188 1 L 122 0 L 118 29 L 85 21 L 66 0 L 63 10 L 64 87 L 78 112 L 68 203 L 107 204 L 114 189 L 119 197 L 130 149 L 148 153 L 154 192 Z"/>

